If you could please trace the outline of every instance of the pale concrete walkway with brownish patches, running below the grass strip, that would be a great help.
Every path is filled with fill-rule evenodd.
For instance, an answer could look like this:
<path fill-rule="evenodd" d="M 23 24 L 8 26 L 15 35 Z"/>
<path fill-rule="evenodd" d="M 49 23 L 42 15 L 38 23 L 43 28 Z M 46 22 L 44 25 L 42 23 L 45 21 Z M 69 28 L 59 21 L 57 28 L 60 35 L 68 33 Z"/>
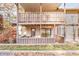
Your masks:
<path fill-rule="evenodd" d="M 79 50 L 50 50 L 50 51 L 0 50 L 0 56 L 62 56 L 62 55 L 79 56 Z"/>

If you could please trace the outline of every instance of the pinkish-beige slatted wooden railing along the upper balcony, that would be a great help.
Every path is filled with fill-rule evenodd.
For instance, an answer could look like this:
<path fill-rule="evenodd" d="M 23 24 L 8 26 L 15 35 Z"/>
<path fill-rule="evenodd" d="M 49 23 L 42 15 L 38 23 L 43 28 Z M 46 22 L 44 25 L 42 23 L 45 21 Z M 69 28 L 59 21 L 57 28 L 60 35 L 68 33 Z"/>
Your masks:
<path fill-rule="evenodd" d="M 53 14 L 54 15 L 54 14 Z M 19 13 L 19 23 L 64 23 L 64 17 L 63 16 L 55 16 L 55 17 L 49 17 L 49 15 L 46 14 L 40 14 L 40 13 Z"/>

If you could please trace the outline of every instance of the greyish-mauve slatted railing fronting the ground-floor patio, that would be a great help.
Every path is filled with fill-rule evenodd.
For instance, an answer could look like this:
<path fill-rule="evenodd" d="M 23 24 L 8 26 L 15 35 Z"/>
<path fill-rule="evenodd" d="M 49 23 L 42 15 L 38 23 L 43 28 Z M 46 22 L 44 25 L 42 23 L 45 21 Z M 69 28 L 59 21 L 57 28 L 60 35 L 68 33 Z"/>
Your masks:
<path fill-rule="evenodd" d="M 54 38 L 18 38 L 18 44 L 52 44 L 55 43 Z"/>

